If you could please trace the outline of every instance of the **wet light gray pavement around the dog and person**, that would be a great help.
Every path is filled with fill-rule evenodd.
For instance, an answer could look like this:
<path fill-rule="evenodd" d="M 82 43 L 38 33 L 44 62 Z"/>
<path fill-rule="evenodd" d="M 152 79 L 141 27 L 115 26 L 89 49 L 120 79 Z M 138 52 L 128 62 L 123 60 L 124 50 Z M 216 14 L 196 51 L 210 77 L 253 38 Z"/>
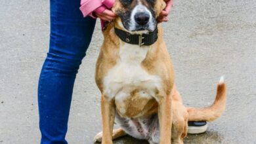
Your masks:
<path fill-rule="evenodd" d="M 185 105 L 209 105 L 221 75 L 228 84 L 223 116 L 185 143 L 256 143 L 256 1 L 175 0 L 163 26 Z M 75 82 L 69 143 L 93 143 L 101 130 L 93 79 L 100 41 L 97 24 Z M 1 3 L 0 143 L 39 143 L 37 80 L 48 43 L 49 1 Z M 115 143 L 146 142 L 122 137 Z"/>

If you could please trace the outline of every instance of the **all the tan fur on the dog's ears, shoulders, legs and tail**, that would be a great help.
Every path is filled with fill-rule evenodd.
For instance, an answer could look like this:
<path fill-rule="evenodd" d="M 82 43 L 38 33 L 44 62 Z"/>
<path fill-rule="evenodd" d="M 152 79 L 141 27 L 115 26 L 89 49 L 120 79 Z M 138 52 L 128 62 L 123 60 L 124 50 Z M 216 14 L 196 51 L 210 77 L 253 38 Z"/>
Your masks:
<path fill-rule="evenodd" d="M 143 1 L 142 1 L 143 2 Z M 144 3 L 144 2 L 143 2 Z M 135 5 L 135 4 L 134 4 Z M 117 0 L 113 10 L 122 10 Z M 156 2 L 157 15 L 165 7 L 163 0 Z M 226 86 L 219 84 L 215 103 L 205 109 L 187 108 L 182 105 L 181 96 L 176 90 L 174 84 L 174 69 L 169 58 L 166 45 L 163 41 L 163 30 L 158 26 L 158 41 L 149 46 L 146 58 L 140 63 L 140 66 L 149 75 L 160 77 L 160 88 L 154 90 L 154 98 L 143 98 L 138 93 L 140 87 L 135 88 L 129 98 L 123 101 L 108 99 L 104 89 L 104 78 L 112 67 L 119 60 L 120 47 L 125 45 L 120 41 L 114 32 L 114 26 L 119 26 L 120 18 L 107 27 L 103 32 L 104 42 L 100 48 L 100 54 L 96 62 L 95 81 L 102 93 L 101 97 L 101 115 L 102 115 L 102 134 L 98 134 L 95 140 L 103 144 L 111 144 L 112 139 L 125 135 L 121 129 L 113 131 L 115 113 L 121 117 L 148 117 L 158 113 L 160 122 L 160 144 L 169 144 L 171 139 L 173 143 L 183 143 L 182 139 L 186 137 L 188 120 L 214 120 L 219 117 L 224 110 L 226 103 Z M 125 29 L 123 29 L 125 30 Z M 123 69 L 125 71 L 125 69 Z M 102 139 L 101 139 L 102 138 Z"/>

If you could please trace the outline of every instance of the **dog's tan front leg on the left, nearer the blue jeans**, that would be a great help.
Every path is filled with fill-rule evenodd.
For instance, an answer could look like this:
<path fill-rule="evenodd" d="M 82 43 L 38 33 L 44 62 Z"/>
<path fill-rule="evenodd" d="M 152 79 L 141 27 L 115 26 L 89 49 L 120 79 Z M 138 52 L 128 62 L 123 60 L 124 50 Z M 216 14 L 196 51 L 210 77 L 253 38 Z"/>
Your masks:
<path fill-rule="evenodd" d="M 101 116 L 102 116 L 102 144 L 112 144 L 112 132 L 115 119 L 115 105 L 113 99 L 101 96 Z"/>

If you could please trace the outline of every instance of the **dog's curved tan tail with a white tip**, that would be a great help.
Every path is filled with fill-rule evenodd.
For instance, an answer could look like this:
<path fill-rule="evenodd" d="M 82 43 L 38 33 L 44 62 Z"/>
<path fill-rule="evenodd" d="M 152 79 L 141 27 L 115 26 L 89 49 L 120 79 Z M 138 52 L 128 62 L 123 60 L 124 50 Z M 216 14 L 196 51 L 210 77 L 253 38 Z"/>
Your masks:
<path fill-rule="evenodd" d="M 224 77 L 221 77 L 217 85 L 217 94 L 214 103 L 210 107 L 197 109 L 194 107 L 188 107 L 188 121 L 212 121 L 219 117 L 223 113 L 226 107 L 226 84 L 224 83 Z"/>

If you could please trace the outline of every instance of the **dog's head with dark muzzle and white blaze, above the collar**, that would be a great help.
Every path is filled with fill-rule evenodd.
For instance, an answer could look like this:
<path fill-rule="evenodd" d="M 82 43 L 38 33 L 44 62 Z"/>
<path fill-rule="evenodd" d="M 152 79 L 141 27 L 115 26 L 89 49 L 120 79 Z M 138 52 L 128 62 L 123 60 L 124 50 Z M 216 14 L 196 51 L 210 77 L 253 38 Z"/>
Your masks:
<path fill-rule="evenodd" d="M 148 33 L 156 29 L 156 19 L 164 7 L 163 0 L 116 0 L 112 10 L 121 29 Z"/>

